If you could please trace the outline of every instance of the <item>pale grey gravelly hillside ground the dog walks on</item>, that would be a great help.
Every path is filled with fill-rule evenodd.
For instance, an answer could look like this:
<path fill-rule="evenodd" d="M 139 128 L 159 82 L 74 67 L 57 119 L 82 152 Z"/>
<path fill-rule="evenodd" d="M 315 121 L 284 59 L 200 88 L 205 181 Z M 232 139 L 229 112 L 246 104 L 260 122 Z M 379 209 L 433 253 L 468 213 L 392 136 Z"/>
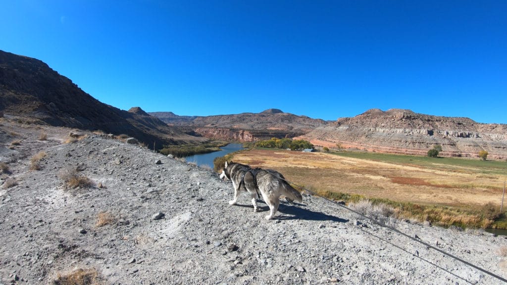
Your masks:
<path fill-rule="evenodd" d="M 9 168 L 0 284 L 55 283 L 76 269 L 96 270 L 104 284 L 503 283 L 322 198 L 281 204 L 266 221 L 267 206 L 252 212 L 245 194 L 230 206 L 232 184 L 210 170 L 104 135 L 64 144 L 69 129 L 0 123 L 0 162 Z M 69 171 L 93 184 L 65 187 Z M 391 224 L 507 277 L 503 236 Z"/>

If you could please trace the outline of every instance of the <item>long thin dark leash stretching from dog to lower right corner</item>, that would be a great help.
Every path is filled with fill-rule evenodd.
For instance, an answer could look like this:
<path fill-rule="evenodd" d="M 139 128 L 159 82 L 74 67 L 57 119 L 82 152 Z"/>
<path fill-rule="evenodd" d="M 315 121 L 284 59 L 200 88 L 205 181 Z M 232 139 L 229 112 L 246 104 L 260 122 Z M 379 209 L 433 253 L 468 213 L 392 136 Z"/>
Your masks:
<path fill-rule="evenodd" d="M 272 174 L 272 173 L 271 173 L 271 172 L 269 172 L 269 171 L 266 171 L 266 172 L 268 172 L 269 174 L 271 174 L 271 175 L 275 176 L 274 174 Z M 275 176 L 275 177 L 276 177 L 276 176 Z M 418 239 L 418 238 L 416 238 L 416 237 L 409 236 L 408 234 L 406 234 L 406 233 L 404 233 L 404 232 L 401 232 L 401 231 L 400 231 L 400 230 L 398 230 L 398 229 L 395 229 L 395 228 L 390 227 L 390 226 L 388 226 L 388 225 L 386 225 L 386 224 L 383 224 L 383 223 L 381 223 L 381 222 L 378 222 L 377 220 L 375 220 L 375 219 L 373 219 L 373 218 L 371 218 L 371 217 L 367 217 L 367 216 L 363 215 L 362 213 L 360 213 L 360 212 L 358 212 L 358 211 L 355 211 L 355 210 L 353 210 L 353 209 L 351 209 L 351 208 L 349 208 L 349 207 L 347 207 L 347 206 L 345 206 L 345 205 L 343 205 L 343 204 L 341 204 L 341 203 L 337 203 L 337 202 L 336 202 L 336 201 L 334 201 L 334 200 L 331 200 L 331 199 L 329 199 L 329 198 L 326 198 L 326 197 L 324 197 L 324 196 L 321 196 L 321 195 L 319 195 L 319 194 L 315 193 L 314 191 L 308 190 L 308 189 L 306 189 L 306 188 L 304 188 L 304 187 L 302 187 L 302 186 L 299 186 L 299 185 L 297 185 L 297 184 L 295 184 L 295 183 L 291 183 L 290 181 L 287 181 L 286 179 L 284 179 L 284 178 L 282 178 L 282 177 L 279 177 L 279 179 L 284 180 L 284 181 L 285 181 L 285 182 L 287 182 L 289 185 L 294 185 L 294 186 L 298 187 L 299 189 L 303 189 L 303 190 L 307 191 L 307 192 L 308 192 L 308 193 L 310 193 L 312 196 L 317 196 L 317 197 L 320 197 L 320 198 L 322 198 L 322 199 L 324 199 L 324 200 L 326 200 L 326 201 L 328 201 L 328 202 L 333 203 L 334 205 L 338 205 L 338 206 L 340 206 L 340 207 L 342 207 L 342 208 L 344 208 L 344 209 L 346 209 L 346 210 L 348 210 L 348 211 L 351 211 L 351 212 L 355 213 L 356 215 L 358 215 L 358 216 L 360 216 L 360 217 L 363 217 L 363 218 L 365 218 L 365 219 L 367 219 L 367 220 L 372 221 L 372 222 L 373 222 L 374 224 L 376 224 L 376 225 L 379 225 L 379 226 L 384 227 L 384 228 L 386 228 L 386 229 L 389 229 L 389 230 L 391 230 L 391 231 L 393 231 L 393 232 L 396 232 L 396 233 L 398 233 L 398 234 L 400 234 L 400 235 L 403 235 L 403 236 L 405 236 L 405 237 L 408 237 L 409 239 L 411 239 L 411 240 L 413 240 L 413 241 L 416 241 L 416 242 L 418 242 L 418 243 L 420 243 L 420 244 L 422 244 L 422 245 L 425 245 L 425 246 L 427 246 L 428 248 L 432 248 L 433 250 L 435 250 L 435 251 L 437 251 L 437 252 L 439 252 L 439 253 L 441 253 L 441 254 L 443 254 L 443 255 L 446 255 L 446 256 L 448 256 L 448 257 L 450 257 L 450 258 L 454 259 L 454 260 L 457 260 L 457 261 L 459 261 L 459 262 L 461 262 L 461 263 L 463 263 L 463 264 L 465 264 L 465 265 L 468 265 L 468 266 L 470 266 L 470 267 L 473 267 L 473 268 L 475 268 L 475 269 L 477 269 L 477 270 L 479 270 L 479 271 L 481 271 L 481 272 L 483 272 L 483 273 L 486 273 L 486 274 L 488 274 L 488 275 L 490 275 L 490 276 L 492 276 L 492 277 L 494 277 L 494 278 L 496 278 L 496 279 L 498 279 L 498 280 L 501 280 L 501 281 L 503 281 L 503 282 L 506 282 L 506 283 L 507 283 L 507 279 L 505 279 L 505 278 L 503 278 L 503 277 L 501 277 L 501 276 L 499 276 L 499 275 L 496 275 L 495 273 L 490 272 L 490 271 L 488 271 L 488 270 L 486 270 L 486 269 L 484 269 L 484 268 L 481 268 L 481 267 L 479 267 L 479 266 L 477 266 L 477 265 L 475 265 L 475 264 L 472 264 L 472 263 L 470 263 L 470 262 L 468 262 L 468 261 L 466 261 L 466 260 L 463 260 L 463 259 L 461 259 L 461 258 L 459 258 L 459 257 L 457 257 L 457 256 L 454 256 L 454 255 L 452 255 L 452 254 L 450 254 L 450 253 L 444 252 L 444 251 L 443 251 L 443 250 L 441 250 L 440 248 L 435 247 L 435 246 L 433 246 L 433 245 L 431 245 L 431 244 L 429 244 L 429 243 L 427 243 L 427 242 L 424 242 L 424 241 L 422 241 L 421 239 Z M 451 272 L 450 272 L 450 273 L 451 273 Z M 451 274 L 452 274 L 452 273 L 451 273 Z M 459 276 L 458 276 L 458 277 L 459 277 Z M 460 277 L 460 278 L 461 278 L 461 279 L 463 279 L 462 277 Z M 463 279 L 463 280 L 465 280 L 465 279 Z M 467 281 L 468 283 L 470 283 L 468 280 L 466 280 L 466 281 Z"/>

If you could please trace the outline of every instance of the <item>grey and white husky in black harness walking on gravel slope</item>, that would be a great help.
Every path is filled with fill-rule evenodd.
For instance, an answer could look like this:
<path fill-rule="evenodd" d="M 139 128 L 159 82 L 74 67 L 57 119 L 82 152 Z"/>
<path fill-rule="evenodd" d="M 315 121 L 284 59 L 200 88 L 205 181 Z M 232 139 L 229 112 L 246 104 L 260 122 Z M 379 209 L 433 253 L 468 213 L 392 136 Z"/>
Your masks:
<path fill-rule="evenodd" d="M 234 199 L 229 201 L 230 205 L 236 204 L 241 191 L 246 191 L 250 194 L 253 211 L 256 212 L 257 198 L 262 196 L 270 209 L 266 220 L 271 220 L 275 216 L 280 204 L 280 195 L 285 195 L 291 202 L 303 201 L 301 194 L 285 181 L 283 175 L 272 169 L 251 168 L 245 164 L 226 161 L 220 179 L 232 181 Z"/>

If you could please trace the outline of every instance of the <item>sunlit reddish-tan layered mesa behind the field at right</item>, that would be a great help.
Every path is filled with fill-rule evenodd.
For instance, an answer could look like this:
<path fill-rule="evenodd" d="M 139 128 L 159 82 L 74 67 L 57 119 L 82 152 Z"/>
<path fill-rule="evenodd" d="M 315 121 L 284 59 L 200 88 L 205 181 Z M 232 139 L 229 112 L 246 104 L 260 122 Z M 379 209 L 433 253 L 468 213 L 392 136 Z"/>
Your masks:
<path fill-rule="evenodd" d="M 442 156 L 477 157 L 485 150 L 490 159 L 507 159 L 507 125 L 410 110 L 373 109 L 353 118 L 341 118 L 298 138 L 318 146 L 413 155 L 426 155 L 439 144 Z"/>

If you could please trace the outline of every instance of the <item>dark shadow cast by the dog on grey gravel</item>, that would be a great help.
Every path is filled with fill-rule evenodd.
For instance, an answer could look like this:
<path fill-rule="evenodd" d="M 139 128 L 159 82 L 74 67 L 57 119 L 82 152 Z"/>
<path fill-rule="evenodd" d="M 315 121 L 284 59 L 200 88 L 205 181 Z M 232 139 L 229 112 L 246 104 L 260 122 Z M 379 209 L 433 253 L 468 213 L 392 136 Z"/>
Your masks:
<path fill-rule="evenodd" d="M 260 201 L 258 201 L 260 202 Z M 252 205 L 241 205 L 236 204 L 239 207 L 247 207 L 253 208 Z M 275 215 L 273 220 L 309 220 L 309 221 L 332 221 L 339 223 L 347 223 L 349 220 L 341 219 L 335 216 L 326 215 L 325 213 L 315 212 L 309 209 L 304 208 L 306 205 L 294 203 L 288 204 L 285 202 L 281 202 L 278 207 L 278 212 L 281 212 L 285 215 Z M 258 205 L 260 211 L 269 211 L 268 206 Z"/>

